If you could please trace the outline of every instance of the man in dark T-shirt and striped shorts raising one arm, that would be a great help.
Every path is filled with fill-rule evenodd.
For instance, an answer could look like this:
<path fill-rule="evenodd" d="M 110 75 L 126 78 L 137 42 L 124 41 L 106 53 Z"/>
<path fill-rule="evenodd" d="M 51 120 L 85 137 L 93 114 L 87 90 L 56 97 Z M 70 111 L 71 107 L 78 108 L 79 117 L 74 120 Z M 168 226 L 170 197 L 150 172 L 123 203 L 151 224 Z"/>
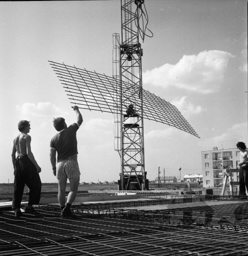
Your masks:
<path fill-rule="evenodd" d="M 81 113 L 77 106 L 72 107 L 77 115 L 77 122 L 67 128 L 65 119 L 56 118 L 53 126 L 58 133 L 52 137 L 50 142 L 50 160 L 53 174 L 58 179 L 58 200 L 61 208 L 61 217 L 76 218 L 71 204 L 77 196 L 77 188 L 80 180 L 80 171 L 77 163 L 77 130 L 83 122 Z M 56 151 L 58 153 L 56 165 Z M 66 203 L 65 191 L 67 179 L 70 182 L 70 192 Z"/>

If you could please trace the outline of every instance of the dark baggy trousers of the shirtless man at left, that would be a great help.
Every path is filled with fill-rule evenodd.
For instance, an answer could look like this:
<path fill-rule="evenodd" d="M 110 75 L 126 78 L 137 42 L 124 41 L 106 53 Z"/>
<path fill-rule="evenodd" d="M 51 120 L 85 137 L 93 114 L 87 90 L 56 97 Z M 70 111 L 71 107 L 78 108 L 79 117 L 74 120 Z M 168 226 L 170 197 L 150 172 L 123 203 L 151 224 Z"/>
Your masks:
<path fill-rule="evenodd" d="M 29 188 L 28 205 L 39 204 L 41 198 L 41 179 L 37 168 L 28 155 L 17 156 L 15 162 L 15 179 L 12 208 L 21 208 L 25 184 Z"/>

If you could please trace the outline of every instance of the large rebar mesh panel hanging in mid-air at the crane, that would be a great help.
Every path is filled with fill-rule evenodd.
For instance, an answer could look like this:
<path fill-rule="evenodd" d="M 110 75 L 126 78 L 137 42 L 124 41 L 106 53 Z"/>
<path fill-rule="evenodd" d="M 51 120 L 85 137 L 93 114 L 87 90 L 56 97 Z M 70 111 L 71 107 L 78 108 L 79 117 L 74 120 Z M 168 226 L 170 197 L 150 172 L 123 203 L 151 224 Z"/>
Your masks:
<path fill-rule="evenodd" d="M 60 78 L 71 103 L 77 104 L 81 109 L 120 113 L 119 80 L 105 74 L 79 69 L 75 66 L 50 62 L 51 67 Z M 142 102 L 139 98 L 139 86 L 135 83 L 130 84 L 123 81 L 121 86 L 122 102 L 127 104 L 122 108 L 127 109 L 128 104 L 133 104 L 137 113 L 140 116 L 143 115 L 143 118 L 173 126 L 199 137 L 180 111 L 171 103 L 142 89 L 143 113 L 140 113 Z M 131 88 L 132 90 L 130 90 Z M 125 101 L 125 99 L 128 100 Z M 132 99 L 135 99 L 135 102 Z"/>

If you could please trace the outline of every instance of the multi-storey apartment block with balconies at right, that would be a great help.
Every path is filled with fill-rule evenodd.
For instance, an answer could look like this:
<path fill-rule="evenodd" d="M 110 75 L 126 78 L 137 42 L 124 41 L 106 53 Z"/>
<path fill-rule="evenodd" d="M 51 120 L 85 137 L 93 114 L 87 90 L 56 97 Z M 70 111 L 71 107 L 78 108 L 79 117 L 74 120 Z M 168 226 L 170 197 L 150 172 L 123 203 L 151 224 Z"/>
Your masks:
<path fill-rule="evenodd" d="M 221 187 L 223 183 L 223 169 L 239 167 L 239 149 L 218 149 L 202 151 L 203 187 Z M 232 181 L 238 181 L 237 174 L 233 174 Z"/>

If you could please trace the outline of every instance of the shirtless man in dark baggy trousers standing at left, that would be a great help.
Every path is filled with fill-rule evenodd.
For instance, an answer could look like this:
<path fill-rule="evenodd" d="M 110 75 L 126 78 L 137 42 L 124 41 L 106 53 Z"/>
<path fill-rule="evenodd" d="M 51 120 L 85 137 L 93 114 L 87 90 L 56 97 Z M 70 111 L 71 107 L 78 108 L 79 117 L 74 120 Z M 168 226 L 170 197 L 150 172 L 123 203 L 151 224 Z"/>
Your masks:
<path fill-rule="evenodd" d="M 28 135 L 30 129 L 28 121 L 22 120 L 18 123 L 20 134 L 14 139 L 11 155 L 15 175 L 12 208 L 15 209 L 17 218 L 22 216 L 20 208 L 25 184 L 30 190 L 25 213 L 39 215 L 39 212 L 34 210 L 33 205 L 39 204 L 41 197 L 42 183 L 39 175 L 41 167 L 35 161 L 31 151 L 31 137 Z"/>

